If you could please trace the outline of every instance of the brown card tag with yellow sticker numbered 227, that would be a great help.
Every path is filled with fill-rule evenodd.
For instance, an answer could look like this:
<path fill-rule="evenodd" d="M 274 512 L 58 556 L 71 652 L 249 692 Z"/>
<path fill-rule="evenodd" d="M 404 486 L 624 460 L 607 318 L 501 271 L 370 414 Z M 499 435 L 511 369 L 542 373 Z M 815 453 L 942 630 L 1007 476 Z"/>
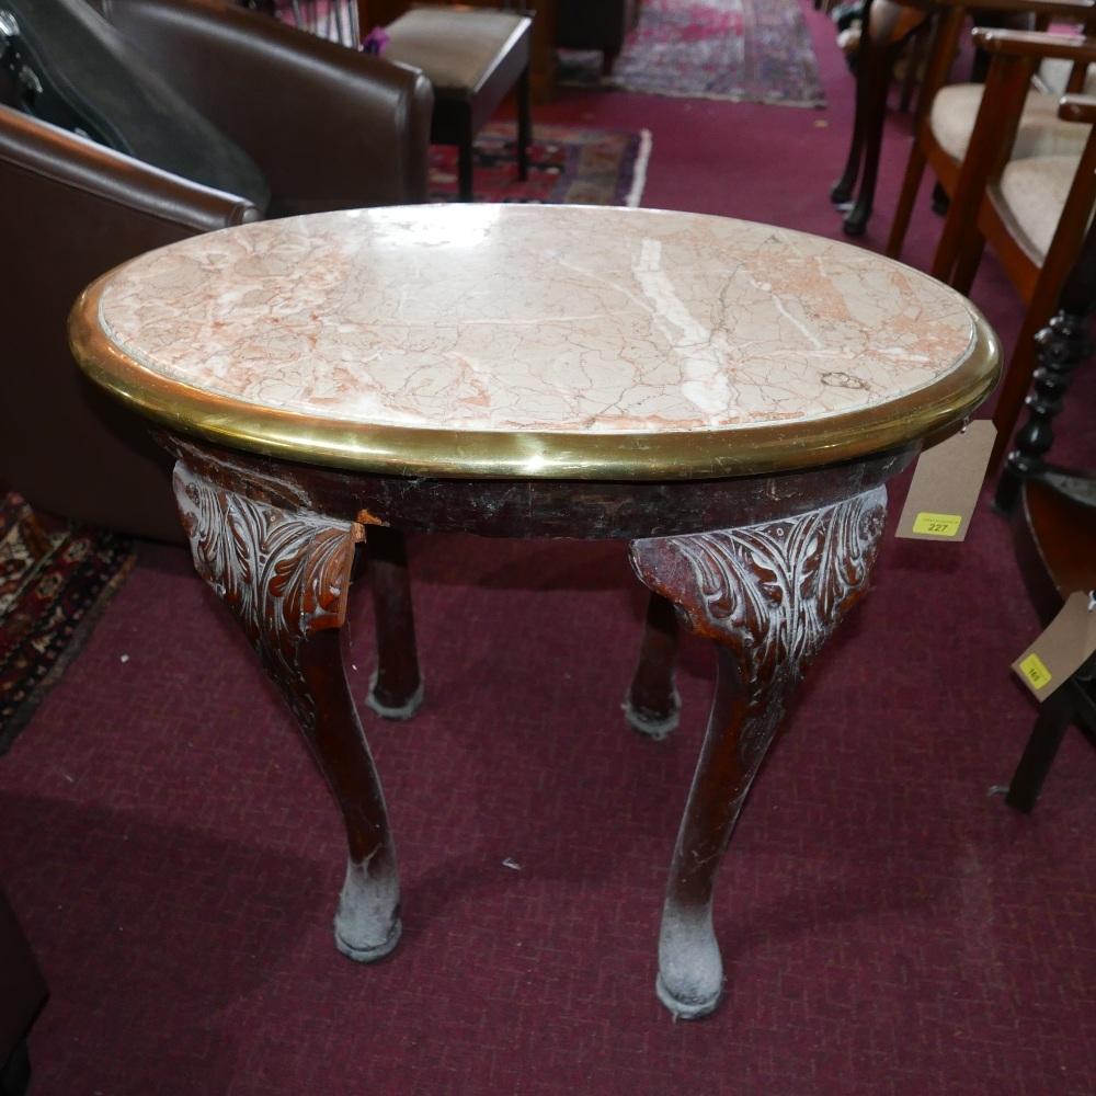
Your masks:
<path fill-rule="evenodd" d="M 996 435 L 989 419 L 978 419 L 922 453 L 897 536 L 915 540 L 967 539 Z"/>

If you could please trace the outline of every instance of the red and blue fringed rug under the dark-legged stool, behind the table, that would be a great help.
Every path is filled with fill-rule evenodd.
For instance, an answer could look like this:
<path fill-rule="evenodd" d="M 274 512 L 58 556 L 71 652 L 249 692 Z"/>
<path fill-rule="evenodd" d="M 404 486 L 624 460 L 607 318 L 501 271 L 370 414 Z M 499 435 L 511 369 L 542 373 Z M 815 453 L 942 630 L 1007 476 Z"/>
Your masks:
<path fill-rule="evenodd" d="M 582 129 L 539 125 L 533 119 L 529 178 L 517 179 L 516 125 L 491 123 L 473 147 L 477 202 L 570 203 L 638 206 L 647 181 L 651 134 L 624 129 Z M 457 150 L 430 150 L 430 196 L 435 202 L 457 193 Z"/>

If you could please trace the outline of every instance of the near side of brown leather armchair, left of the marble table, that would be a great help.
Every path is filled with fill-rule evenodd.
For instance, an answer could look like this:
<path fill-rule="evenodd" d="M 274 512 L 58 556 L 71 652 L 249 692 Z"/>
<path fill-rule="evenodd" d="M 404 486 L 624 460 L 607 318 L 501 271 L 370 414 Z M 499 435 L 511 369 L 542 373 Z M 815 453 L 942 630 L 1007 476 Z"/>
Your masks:
<path fill-rule="evenodd" d="M 0 194 L 11 214 L 0 480 L 53 514 L 182 539 L 170 459 L 141 420 L 83 378 L 66 318 L 80 290 L 118 263 L 258 210 L 2 106 Z"/>

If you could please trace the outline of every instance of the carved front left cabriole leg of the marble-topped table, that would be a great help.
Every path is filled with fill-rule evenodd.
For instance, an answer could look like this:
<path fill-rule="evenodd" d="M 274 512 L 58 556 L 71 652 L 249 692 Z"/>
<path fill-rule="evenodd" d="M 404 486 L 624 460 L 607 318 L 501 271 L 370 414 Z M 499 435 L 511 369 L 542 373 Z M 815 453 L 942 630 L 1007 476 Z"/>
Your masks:
<path fill-rule="evenodd" d="M 362 526 L 253 502 L 182 461 L 174 487 L 195 569 L 289 703 L 342 810 L 350 859 L 335 945 L 352 959 L 379 959 L 400 935 L 396 850 L 338 631 Z"/>

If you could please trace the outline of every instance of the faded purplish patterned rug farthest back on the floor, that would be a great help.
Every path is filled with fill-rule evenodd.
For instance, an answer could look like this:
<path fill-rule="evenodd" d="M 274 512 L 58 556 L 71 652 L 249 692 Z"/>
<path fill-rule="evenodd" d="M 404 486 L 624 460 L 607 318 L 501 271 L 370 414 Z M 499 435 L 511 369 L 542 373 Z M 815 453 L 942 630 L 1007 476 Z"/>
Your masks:
<path fill-rule="evenodd" d="M 643 0 L 613 75 L 601 54 L 560 52 L 564 83 L 690 99 L 824 106 L 796 0 Z"/>

